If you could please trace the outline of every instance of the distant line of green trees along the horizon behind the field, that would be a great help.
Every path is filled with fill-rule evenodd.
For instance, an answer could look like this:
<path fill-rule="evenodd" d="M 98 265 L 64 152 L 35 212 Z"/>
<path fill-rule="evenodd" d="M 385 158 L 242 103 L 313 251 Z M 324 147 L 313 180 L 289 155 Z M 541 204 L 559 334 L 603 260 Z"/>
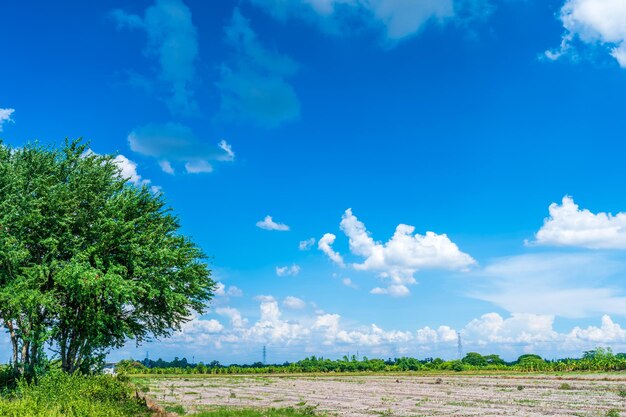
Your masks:
<path fill-rule="evenodd" d="M 539 355 L 524 354 L 512 362 L 498 355 L 481 355 L 469 352 L 460 360 L 441 358 L 416 359 L 362 359 L 344 356 L 325 359 L 311 356 L 297 362 L 265 365 L 222 365 L 218 361 L 192 364 L 186 358 L 171 362 L 158 359 L 123 360 L 117 371 L 130 374 L 290 374 L 328 372 L 406 372 L 406 371 L 519 371 L 519 372 L 569 372 L 569 371 L 622 371 L 626 370 L 626 354 L 614 354 L 610 348 L 597 348 L 584 352 L 581 358 L 546 360 Z"/>

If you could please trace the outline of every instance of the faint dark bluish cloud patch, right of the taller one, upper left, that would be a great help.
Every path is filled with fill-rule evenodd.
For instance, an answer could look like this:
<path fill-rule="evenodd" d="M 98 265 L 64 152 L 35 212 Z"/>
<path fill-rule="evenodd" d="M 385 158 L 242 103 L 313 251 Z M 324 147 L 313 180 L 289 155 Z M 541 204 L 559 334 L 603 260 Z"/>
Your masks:
<path fill-rule="evenodd" d="M 300 101 L 287 83 L 298 65 L 288 56 L 265 48 L 250 22 L 235 9 L 226 28 L 226 43 L 234 58 L 222 65 L 218 118 L 276 127 L 300 117 Z"/>

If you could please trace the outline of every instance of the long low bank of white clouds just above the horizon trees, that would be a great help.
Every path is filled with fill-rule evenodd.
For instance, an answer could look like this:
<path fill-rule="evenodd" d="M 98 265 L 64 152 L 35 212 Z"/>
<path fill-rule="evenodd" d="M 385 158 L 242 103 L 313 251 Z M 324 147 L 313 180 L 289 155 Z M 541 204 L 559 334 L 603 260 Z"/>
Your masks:
<path fill-rule="evenodd" d="M 254 351 L 259 344 L 268 344 L 274 350 L 289 349 L 301 354 L 343 355 L 346 350 L 358 349 L 375 356 L 435 353 L 448 358 L 456 356 L 457 334 L 461 335 L 466 351 L 506 353 L 509 357 L 528 351 L 563 356 L 580 354 L 599 345 L 626 347 L 626 330 L 609 315 L 602 316 L 599 326 L 576 326 L 563 332 L 554 329 L 553 315 L 514 313 L 504 317 L 494 312 L 457 329 L 449 325 L 384 329 L 375 323 L 349 325 L 346 323 L 353 323 L 351 320 L 344 323 L 336 313 L 303 314 L 306 304 L 296 297 L 283 300 L 284 312 L 272 296 L 259 296 L 257 300 L 258 318 L 254 322 L 235 308 L 217 308 L 215 314 L 228 318 L 228 326 L 215 319 L 194 317 L 173 340 L 184 340 L 190 346 L 213 345 L 228 351 Z"/>

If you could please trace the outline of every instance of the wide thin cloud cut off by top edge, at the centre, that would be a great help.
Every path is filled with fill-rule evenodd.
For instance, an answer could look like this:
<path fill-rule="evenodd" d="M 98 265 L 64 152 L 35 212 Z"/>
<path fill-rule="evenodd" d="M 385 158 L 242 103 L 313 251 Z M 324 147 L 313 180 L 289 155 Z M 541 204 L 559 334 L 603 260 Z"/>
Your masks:
<path fill-rule="evenodd" d="M 491 14 L 488 0 L 250 0 L 279 20 L 295 17 L 330 33 L 374 27 L 387 42 L 418 34 L 429 23 L 467 21 Z M 356 27 L 355 27 L 356 26 Z"/>

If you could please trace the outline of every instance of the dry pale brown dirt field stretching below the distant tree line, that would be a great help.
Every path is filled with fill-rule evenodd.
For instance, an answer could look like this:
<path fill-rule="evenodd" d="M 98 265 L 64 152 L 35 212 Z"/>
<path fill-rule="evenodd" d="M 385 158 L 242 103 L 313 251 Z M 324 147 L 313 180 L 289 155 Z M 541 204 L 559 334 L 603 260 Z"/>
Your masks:
<path fill-rule="evenodd" d="M 619 373 L 155 376 L 139 384 L 157 402 L 188 412 L 292 406 L 339 416 L 626 416 L 626 374 Z"/>

